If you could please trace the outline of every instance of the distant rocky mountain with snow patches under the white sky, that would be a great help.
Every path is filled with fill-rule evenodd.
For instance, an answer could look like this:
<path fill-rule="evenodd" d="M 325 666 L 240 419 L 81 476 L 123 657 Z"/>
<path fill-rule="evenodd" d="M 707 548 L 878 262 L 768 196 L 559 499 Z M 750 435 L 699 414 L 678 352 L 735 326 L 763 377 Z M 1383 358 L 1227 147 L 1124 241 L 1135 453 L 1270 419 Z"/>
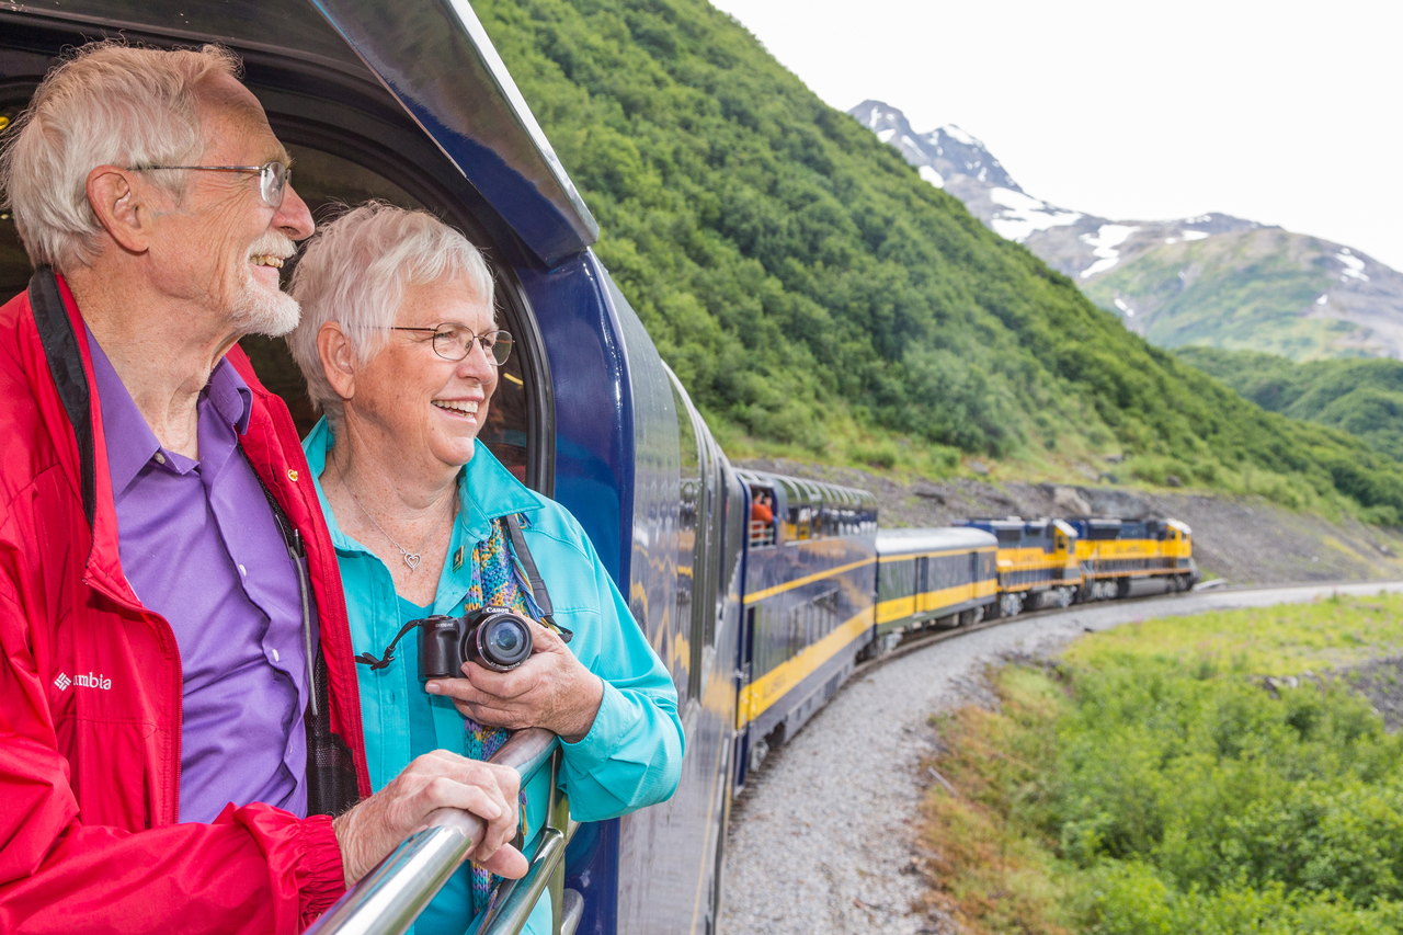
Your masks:
<path fill-rule="evenodd" d="M 1111 220 L 1059 208 L 958 126 L 918 133 L 882 101 L 847 112 L 1156 344 L 1403 358 L 1403 274 L 1357 250 L 1232 215 Z"/>

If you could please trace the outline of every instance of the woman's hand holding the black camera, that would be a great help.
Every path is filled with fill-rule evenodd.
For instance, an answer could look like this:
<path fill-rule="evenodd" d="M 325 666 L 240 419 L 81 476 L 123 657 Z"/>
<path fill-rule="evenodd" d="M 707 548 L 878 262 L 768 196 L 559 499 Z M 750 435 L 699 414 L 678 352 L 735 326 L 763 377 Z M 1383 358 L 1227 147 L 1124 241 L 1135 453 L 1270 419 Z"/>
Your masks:
<path fill-rule="evenodd" d="M 492 727 L 544 727 L 579 743 L 595 723 L 603 681 L 553 632 L 532 621 L 532 656 L 509 672 L 464 663 L 466 678 L 438 678 L 424 689 L 452 698 L 457 710 Z"/>

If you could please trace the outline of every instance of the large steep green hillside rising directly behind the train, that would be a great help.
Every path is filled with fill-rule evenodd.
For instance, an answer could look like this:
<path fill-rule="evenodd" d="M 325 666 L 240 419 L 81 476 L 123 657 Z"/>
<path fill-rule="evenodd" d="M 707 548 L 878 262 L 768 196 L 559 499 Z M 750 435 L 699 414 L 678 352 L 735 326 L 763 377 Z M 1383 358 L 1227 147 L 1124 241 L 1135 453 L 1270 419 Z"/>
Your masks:
<path fill-rule="evenodd" d="M 1403 472 L 1121 327 L 702 0 L 474 4 L 725 444 L 933 469 L 954 449 L 1376 519 Z"/>

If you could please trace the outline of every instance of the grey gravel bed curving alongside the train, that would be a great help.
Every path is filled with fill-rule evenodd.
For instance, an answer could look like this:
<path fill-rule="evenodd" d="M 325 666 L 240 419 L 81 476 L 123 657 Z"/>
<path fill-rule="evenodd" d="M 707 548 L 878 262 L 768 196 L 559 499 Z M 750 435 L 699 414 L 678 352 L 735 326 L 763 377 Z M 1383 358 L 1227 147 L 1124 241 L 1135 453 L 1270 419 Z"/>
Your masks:
<path fill-rule="evenodd" d="M 986 696 L 986 664 L 1047 654 L 1085 632 L 1157 616 L 1403 591 L 1403 581 L 1216 590 L 1075 606 L 958 639 L 859 672 L 737 802 L 727 841 L 723 932 L 730 935 L 944 935 L 913 910 L 922 877 L 915 821 L 934 779 L 930 715 Z"/>

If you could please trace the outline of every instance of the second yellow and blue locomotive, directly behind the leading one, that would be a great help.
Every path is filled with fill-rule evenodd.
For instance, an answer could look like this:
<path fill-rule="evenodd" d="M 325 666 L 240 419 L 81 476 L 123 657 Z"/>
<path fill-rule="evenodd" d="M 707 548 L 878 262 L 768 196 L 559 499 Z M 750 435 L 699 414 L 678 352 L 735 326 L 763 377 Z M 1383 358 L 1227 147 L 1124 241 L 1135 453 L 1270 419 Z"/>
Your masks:
<path fill-rule="evenodd" d="M 999 541 L 999 601 L 991 616 L 1020 611 L 1066 606 L 1082 592 L 1082 566 L 1076 557 L 1076 529 L 1062 519 L 969 519 Z"/>

